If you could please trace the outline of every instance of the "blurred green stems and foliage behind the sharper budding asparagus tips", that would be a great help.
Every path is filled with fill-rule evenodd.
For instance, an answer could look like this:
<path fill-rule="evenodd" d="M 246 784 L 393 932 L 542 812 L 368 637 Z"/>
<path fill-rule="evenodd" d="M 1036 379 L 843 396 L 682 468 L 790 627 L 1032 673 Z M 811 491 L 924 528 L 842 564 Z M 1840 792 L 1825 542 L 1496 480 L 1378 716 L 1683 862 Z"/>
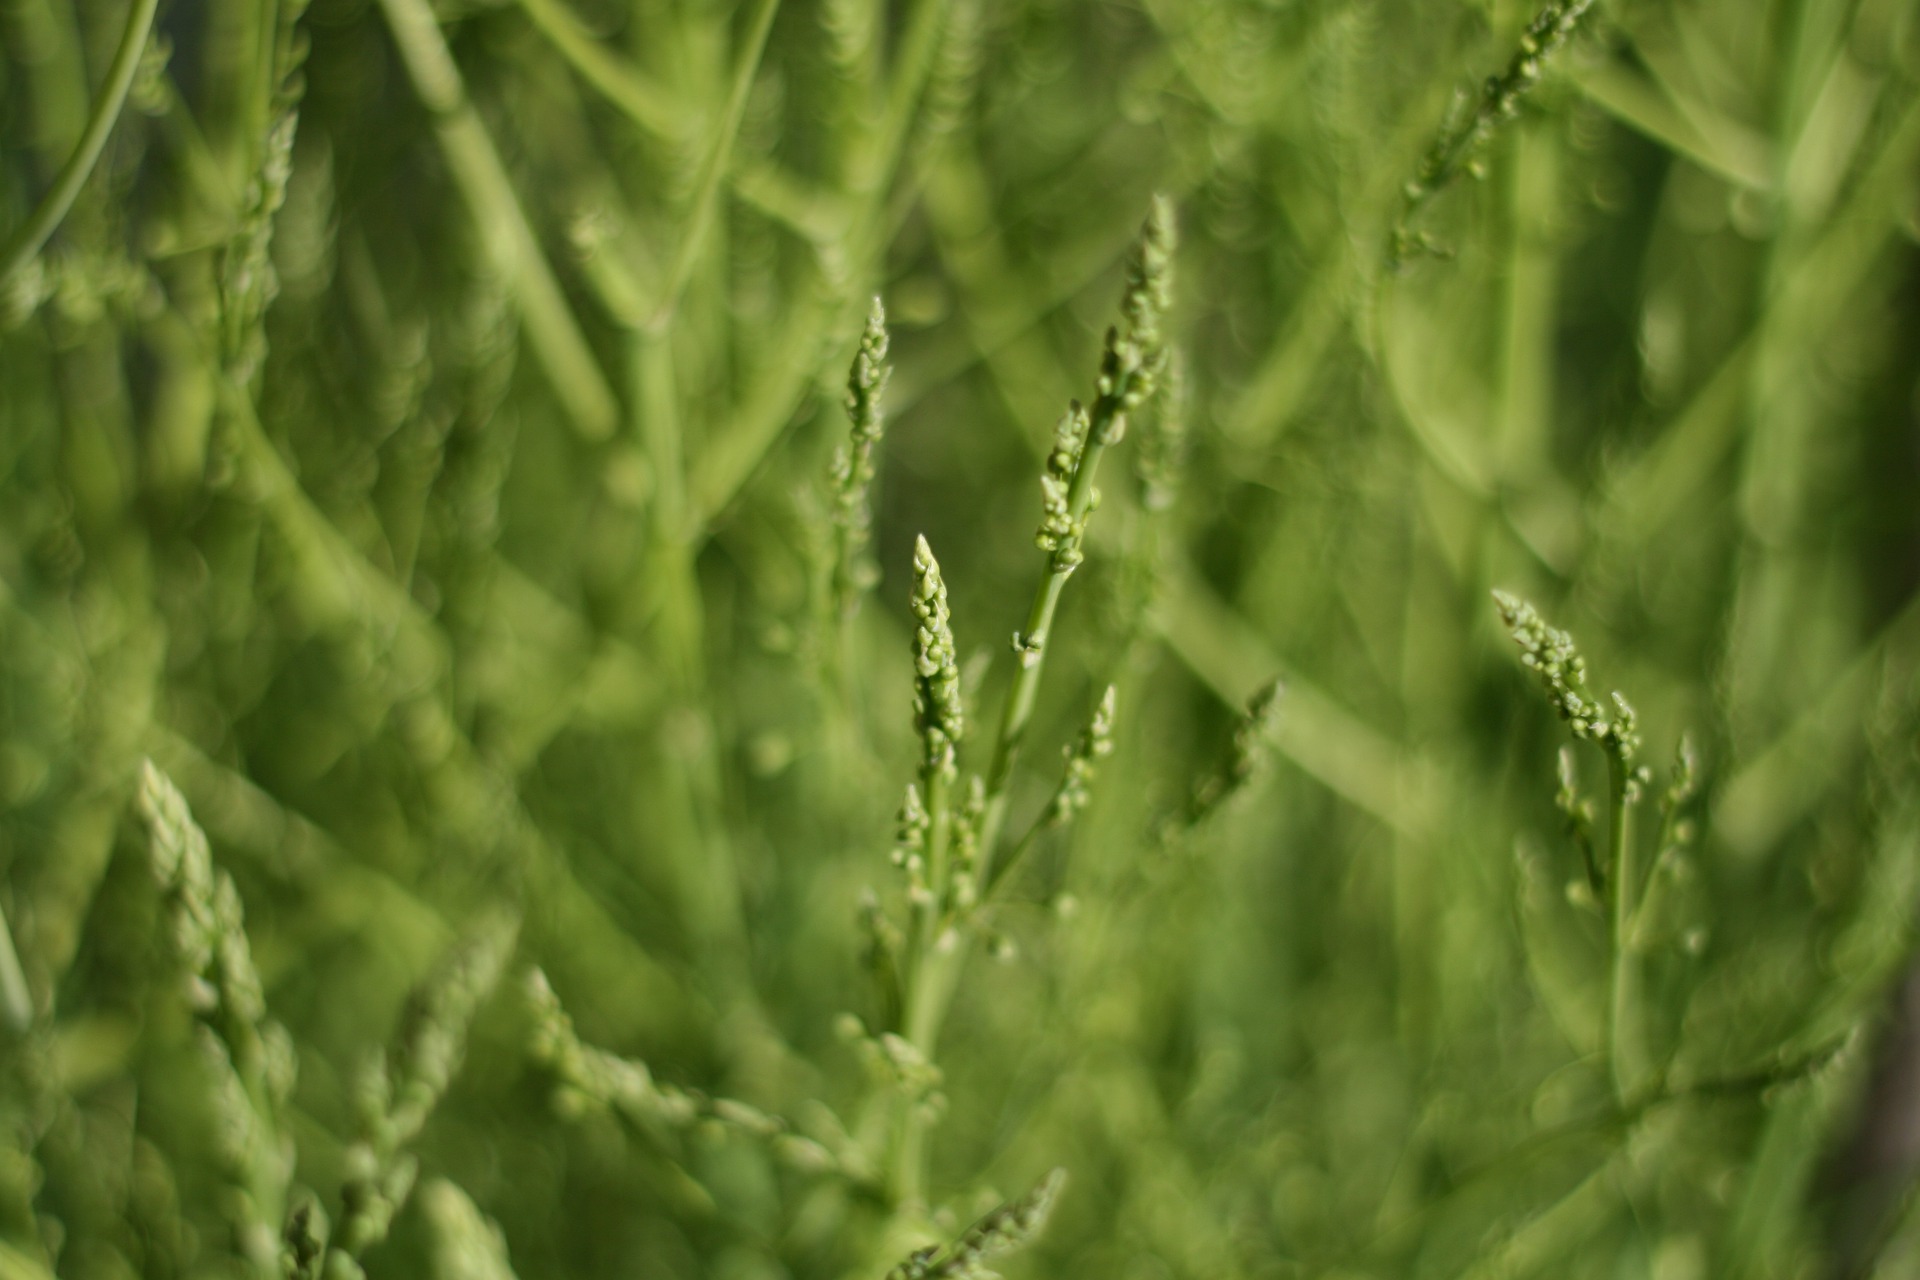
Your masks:
<path fill-rule="evenodd" d="M 1016 1274 L 1920 1268 L 1920 4 L 1605 0 L 1428 192 L 1530 2 L 163 0 L 21 249 L 138 10 L 0 0 L 8 1280 L 248 1272 L 142 758 L 234 877 L 330 1213 L 357 1065 L 518 913 L 413 1148 L 526 1280 L 877 1278 L 1052 1167 Z M 1185 457 L 1167 510 L 1140 432 L 1108 462 L 1016 823 L 1108 681 L 1117 750 L 981 921 L 929 1205 L 555 1109 L 536 963 L 662 1084 L 868 1144 L 914 535 L 991 725 L 1154 192 Z M 1699 748 L 1636 942 L 1657 1098 L 1609 1086 L 1565 731 L 1492 587 L 1651 764 Z M 1273 676 L 1269 768 L 1181 825 Z M 492 1274 L 415 1201 L 367 1274 Z"/>

